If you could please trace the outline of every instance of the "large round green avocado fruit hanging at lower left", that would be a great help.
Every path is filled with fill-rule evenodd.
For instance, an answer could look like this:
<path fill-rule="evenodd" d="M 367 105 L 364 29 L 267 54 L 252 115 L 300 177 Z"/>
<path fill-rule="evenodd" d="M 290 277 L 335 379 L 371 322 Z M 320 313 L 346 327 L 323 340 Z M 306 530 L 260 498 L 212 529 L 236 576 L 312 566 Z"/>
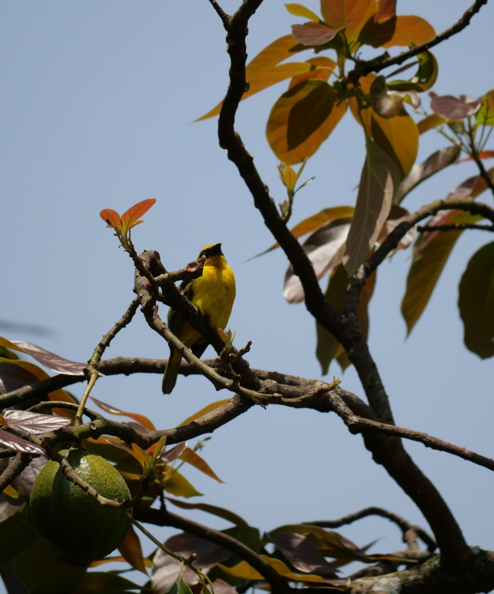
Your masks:
<path fill-rule="evenodd" d="M 122 475 L 102 456 L 85 450 L 60 454 L 103 497 L 118 501 L 131 497 Z M 29 513 L 42 539 L 81 561 L 108 555 L 124 540 L 130 525 L 118 510 L 100 505 L 68 481 L 55 460 L 47 462 L 34 481 Z"/>

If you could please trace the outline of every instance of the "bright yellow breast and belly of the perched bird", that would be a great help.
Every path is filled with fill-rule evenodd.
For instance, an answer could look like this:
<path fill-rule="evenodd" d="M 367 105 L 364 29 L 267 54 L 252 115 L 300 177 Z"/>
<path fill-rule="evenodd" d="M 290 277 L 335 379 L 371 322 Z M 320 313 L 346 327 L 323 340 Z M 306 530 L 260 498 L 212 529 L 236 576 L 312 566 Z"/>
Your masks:
<path fill-rule="evenodd" d="M 222 255 L 204 264 L 202 276 L 194 280 L 192 303 L 208 318 L 211 328 L 224 328 L 235 299 L 235 276 Z"/>

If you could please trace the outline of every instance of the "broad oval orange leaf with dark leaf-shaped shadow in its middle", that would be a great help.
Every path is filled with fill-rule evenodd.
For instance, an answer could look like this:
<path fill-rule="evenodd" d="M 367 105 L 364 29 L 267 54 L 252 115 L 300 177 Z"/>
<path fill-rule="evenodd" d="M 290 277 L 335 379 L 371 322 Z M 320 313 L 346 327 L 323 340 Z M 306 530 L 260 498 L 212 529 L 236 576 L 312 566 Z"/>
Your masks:
<path fill-rule="evenodd" d="M 281 95 L 271 109 L 266 135 L 271 149 L 287 165 L 310 157 L 346 112 L 335 91 L 321 80 L 307 80 Z"/>

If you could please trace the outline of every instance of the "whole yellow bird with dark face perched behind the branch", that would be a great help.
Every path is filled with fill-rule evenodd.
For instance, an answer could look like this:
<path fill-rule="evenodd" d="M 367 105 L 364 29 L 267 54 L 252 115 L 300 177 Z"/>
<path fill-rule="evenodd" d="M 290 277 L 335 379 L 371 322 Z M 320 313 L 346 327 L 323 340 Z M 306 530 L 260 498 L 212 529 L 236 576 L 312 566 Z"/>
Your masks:
<path fill-rule="evenodd" d="M 183 294 L 207 318 L 211 330 L 224 328 L 228 323 L 235 299 L 235 276 L 221 251 L 221 244 L 205 245 L 198 258 L 205 256 L 204 270 L 198 279 L 186 279 L 181 284 Z M 183 344 L 200 357 L 208 346 L 207 340 L 170 308 L 168 327 Z M 170 345 L 170 358 L 164 370 L 163 394 L 171 394 L 182 360 L 182 353 Z"/>

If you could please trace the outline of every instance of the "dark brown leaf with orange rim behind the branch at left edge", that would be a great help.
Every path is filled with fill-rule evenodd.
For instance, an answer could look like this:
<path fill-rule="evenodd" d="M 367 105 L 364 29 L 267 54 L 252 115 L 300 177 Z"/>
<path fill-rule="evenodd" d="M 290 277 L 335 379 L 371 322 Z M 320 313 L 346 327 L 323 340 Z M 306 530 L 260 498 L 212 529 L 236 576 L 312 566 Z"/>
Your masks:
<path fill-rule="evenodd" d="M 30 361 L 21 361 L 21 359 L 12 360 L 0 357 L 0 391 L 2 384 L 5 391 L 15 390 L 21 386 L 27 386 L 36 381 L 46 380 L 50 376 Z M 62 402 L 75 403 L 75 400 L 64 390 L 53 390 L 48 394 L 49 400 L 58 400 Z M 75 418 L 75 410 L 54 408 L 55 415 L 65 416 L 71 421 Z"/>

